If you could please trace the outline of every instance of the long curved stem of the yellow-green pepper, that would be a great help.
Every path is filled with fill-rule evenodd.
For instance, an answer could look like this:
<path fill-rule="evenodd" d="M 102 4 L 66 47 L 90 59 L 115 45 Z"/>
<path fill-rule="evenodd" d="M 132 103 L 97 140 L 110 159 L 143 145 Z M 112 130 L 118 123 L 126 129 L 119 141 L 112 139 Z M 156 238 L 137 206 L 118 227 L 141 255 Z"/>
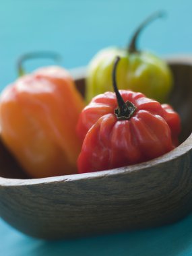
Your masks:
<path fill-rule="evenodd" d="M 148 18 L 146 18 L 146 20 L 144 20 L 140 24 L 140 26 L 137 28 L 137 30 L 133 34 L 133 37 L 131 39 L 131 42 L 129 43 L 129 46 L 127 47 L 127 51 L 129 53 L 137 53 L 138 52 L 137 51 L 137 38 L 138 38 L 139 34 L 141 33 L 141 31 L 143 30 L 143 28 L 146 28 L 146 26 L 148 26 L 148 24 L 150 24 L 154 20 L 156 20 L 158 18 L 163 18 L 165 16 L 165 14 L 166 13 L 164 11 L 157 11 L 156 13 L 153 13 Z"/>

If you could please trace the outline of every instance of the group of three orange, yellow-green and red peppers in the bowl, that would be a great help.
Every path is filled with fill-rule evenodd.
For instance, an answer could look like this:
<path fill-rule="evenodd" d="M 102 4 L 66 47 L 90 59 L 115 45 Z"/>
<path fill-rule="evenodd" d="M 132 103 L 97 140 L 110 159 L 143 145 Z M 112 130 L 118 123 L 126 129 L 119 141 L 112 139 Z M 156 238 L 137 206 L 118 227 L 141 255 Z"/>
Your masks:
<path fill-rule="evenodd" d="M 178 146 L 179 115 L 158 102 L 172 89 L 170 69 L 136 47 L 141 30 L 161 16 L 144 21 L 127 50 L 96 55 L 88 69 L 86 100 L 91 101 L 85 108 L 65 69 L 44 67 L 29 75 L 20 69 L 23 76 L 1 94 L 1 139 L 30 177 L 137 164 Z M 118 90 L 116 76 L 121 89 L 130 90 Z M 115 92 L 106 92 L 111 88 Z"/>

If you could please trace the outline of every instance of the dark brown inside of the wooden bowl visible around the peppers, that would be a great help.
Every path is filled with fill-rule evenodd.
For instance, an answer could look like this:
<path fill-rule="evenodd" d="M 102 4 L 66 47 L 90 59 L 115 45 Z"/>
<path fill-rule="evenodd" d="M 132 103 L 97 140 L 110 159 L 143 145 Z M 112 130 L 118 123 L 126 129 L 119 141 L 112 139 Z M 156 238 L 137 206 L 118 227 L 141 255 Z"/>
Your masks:
<path fill-rule="evenodd" d="M 192 131 L 192 65 L 183 63 L 169 63 L 174 77 L 174 88 L 170 94 L 169 103 L 177 110 L 181 117 L 182 132 L 179 137 L 182 143 L 191 135 Z M 85 72 L 74 75 L 79 92 L 84 95 Z M 13 156 L 3 146 L 0 140 L 0 177 L 11 179 L 28 179 Z"/>

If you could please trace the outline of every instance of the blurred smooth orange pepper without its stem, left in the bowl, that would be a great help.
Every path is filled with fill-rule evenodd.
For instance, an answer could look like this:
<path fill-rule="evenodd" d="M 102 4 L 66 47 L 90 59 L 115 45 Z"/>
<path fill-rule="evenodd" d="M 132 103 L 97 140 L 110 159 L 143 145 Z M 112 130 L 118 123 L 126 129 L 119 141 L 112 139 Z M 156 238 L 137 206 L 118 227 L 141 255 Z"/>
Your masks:
<path fill-rule="evenodd" d="M 69 73 L 44 67 L 24 75 L 0 98 L 1 138 L 30 177 L 77 172 L 75 126 L 84 100 Z"/>

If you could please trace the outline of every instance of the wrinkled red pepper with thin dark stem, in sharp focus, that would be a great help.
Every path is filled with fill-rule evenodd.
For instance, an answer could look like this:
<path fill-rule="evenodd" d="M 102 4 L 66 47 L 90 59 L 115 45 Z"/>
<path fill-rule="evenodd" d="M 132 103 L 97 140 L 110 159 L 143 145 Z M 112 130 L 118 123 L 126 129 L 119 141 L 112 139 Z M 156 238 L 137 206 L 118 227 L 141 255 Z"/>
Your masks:
<path fill-rule="evenodd" d="M 84 139 L 78 170 L 94 172 L 144 162 L 178 146 L 179 115 L 168 104 L 141 93 L 118 90 L 92 99 L 79 116 L 77 133 Z M 118 103 L 118 106 L 117 106 Z"/>

